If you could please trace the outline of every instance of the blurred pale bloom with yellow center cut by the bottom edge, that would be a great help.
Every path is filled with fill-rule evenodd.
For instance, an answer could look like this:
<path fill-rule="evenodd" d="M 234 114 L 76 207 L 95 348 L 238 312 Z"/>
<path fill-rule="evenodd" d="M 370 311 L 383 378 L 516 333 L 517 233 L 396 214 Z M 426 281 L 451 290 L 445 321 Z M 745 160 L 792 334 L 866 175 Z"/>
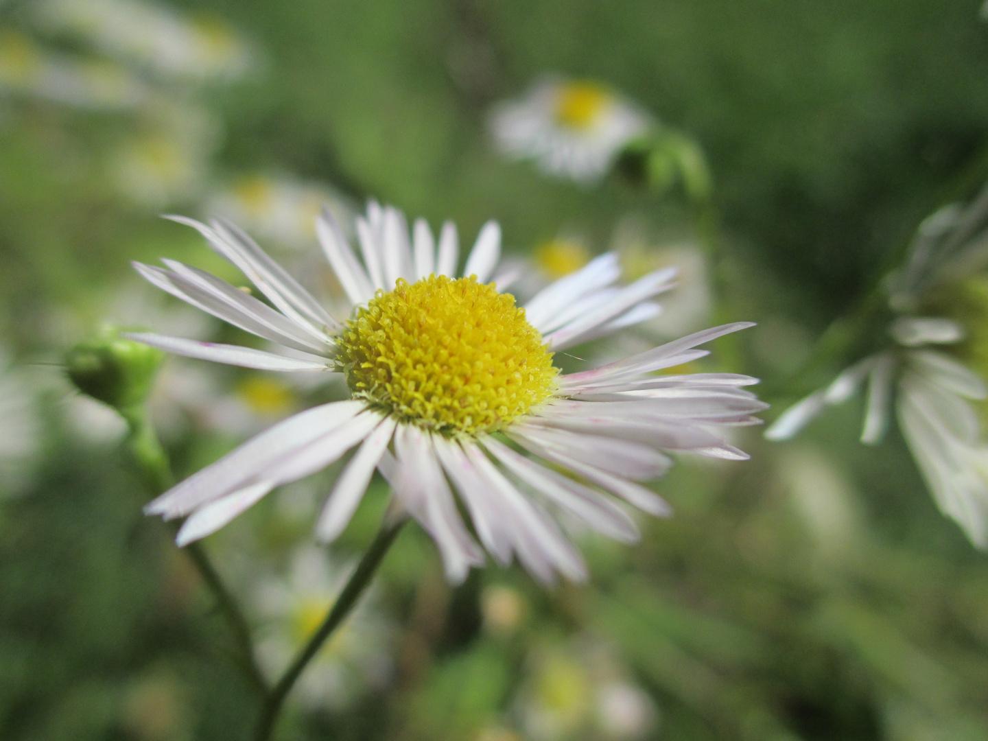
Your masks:
<path fill-rule="evenodd" d="M 527 738 L 632 741 L 651 731 L 654 702 L 603 645 L 581 637 L 535 652 L 517 701 Z"/>

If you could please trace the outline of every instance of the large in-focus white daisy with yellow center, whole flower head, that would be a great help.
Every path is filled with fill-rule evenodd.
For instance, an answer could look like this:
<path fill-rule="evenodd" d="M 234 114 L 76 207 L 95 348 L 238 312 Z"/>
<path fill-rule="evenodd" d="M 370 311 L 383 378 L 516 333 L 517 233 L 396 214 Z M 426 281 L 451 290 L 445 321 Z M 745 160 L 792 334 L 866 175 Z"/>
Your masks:
<path fill-rule="evenodd" d="M 331 541 L 346 528 L 374 469 L 396 506 L 436 541 L 447 577 L 513 556 L 543 582 L 578 580 L 586 567 L 550 510 L 623 541 L 635 521 L 605 492 L 653 515 L 668 506 L 637 483 L 671 460 L 662 451 L 748 456 L 714 429 L 757 422 L 765 404 L 733 373 L 654 375 L 707 355 L 699 346 L 748 323 L 708 329 L 602 368 L 562 374 L 553 352 L 653 316 L 672 287 L 661 270 L 617 287 L 617 257 L 602 255 L 542 289 L 524 308 L 503 292 L 499 226 L 487 222 L 457 272 L 452 223 L 435 239 L 423 219 L 411 235 L 400 211 L 374 203 L 356 222 L 360 255 L 327 212 L 322 248 L 353 311 L 339 321 L 235 226 L 184 217 L 271 301 L 262 302 L 173 260 L 137 264 L 159 288 L 284 348 L 278 352 L 154 334 L 131 339 L 180 355 L 263 371 L 339 372 L 351 398 L 273 426 L 154 500 L 146 511 L 188 516 L 185 544 L 209 535 L 277 486 L 358 448 L 318 517 Z M 491 280 L 491 277 L 494 277 Z M 520 453 L 519 449 L 532 453 Z M 572 476 L 559 472 L 565 469 Z M 460 517 L 455 490 L 472 521 Z"/>

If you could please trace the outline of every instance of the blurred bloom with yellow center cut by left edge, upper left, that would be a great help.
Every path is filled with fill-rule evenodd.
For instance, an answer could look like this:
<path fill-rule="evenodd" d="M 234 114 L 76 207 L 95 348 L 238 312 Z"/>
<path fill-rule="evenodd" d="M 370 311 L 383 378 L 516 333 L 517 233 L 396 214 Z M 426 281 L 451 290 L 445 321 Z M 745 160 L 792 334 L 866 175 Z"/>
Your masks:
<path fill-rule="evenodd" d="M 0 91 L 93 110 L 131 109 L 147 87 L 123 68 L 42 49 L 29 38 L 0 34 Z"/>

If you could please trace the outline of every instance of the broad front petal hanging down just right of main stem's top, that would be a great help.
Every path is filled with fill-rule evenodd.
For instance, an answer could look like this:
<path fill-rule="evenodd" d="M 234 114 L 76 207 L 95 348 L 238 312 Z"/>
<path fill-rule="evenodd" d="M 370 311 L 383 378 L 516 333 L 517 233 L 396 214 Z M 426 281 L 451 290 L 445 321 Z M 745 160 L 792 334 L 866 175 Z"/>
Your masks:
<path fill-rule="evenodd" d="M 425 434 L 412 425 L 399 425 L 394 448 L 398 457 L 396 493 L 439 546 L 447 579 L 458 584 L 470 566 L 483 564 L 483 552 L 463 527 L 453 492 Z"/>

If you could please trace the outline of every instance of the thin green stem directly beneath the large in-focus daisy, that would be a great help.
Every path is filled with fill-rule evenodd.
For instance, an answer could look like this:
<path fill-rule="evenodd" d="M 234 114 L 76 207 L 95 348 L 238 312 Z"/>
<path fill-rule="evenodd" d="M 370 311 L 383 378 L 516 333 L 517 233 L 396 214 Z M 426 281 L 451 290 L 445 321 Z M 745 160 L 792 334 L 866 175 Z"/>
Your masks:
<path fill-rule="evenodd" d="M 268 741 L 271 738 L 275 723 L 282 711 L 285 700 L 288 698 L 288 693 L 291 692 L 291 688 L 294 687 L 295 682 L 298 681 L 305 667 L 319 652 L 319 649 L 322 648 L 326 640 L 333 634 L 333 631 L 340 626 L 357 605 L 364 590 L 371 584 L 371 579 L 377 571 L 377 567 L 380 566 L 384 555 L 391 547 L 391 544 L 394 542 L 395 537 L 397 537 L 405 522 L 405 518 L 395 522 L 392 518 L 385 515 L 384 523 L 381 525 L 367 552 L 364 553 L 364 557 L 357 564 L 357 569 L 350 577 L 343 591 L 340 592 L 340 596 L 333 603 L 333 607 L 330 608 L 322 624 L 319 625 L 319 628 L 298 652 L 291 665 L 285 671 L 285 674 L 282 675 L 282 678 L 268 696 L 268 700 L 261 710 L 261 717 L 258 720 L 257 733 L 254 736 L 255 741 Z"/>

